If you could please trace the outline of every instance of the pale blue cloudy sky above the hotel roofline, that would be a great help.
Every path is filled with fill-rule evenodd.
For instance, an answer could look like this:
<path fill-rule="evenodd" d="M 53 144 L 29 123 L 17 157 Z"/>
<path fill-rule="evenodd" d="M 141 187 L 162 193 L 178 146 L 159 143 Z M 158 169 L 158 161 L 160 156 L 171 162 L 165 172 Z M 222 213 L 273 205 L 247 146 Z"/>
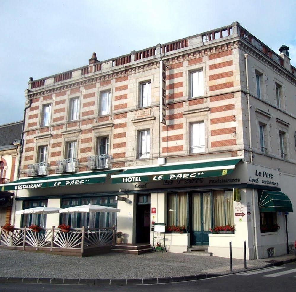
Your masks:
<path fill-rule="evenodd" d="M 1 0 L 0 125 L 23 119 L 34 80 L 238 21 L 296 66 L 296 1 Z"/>

